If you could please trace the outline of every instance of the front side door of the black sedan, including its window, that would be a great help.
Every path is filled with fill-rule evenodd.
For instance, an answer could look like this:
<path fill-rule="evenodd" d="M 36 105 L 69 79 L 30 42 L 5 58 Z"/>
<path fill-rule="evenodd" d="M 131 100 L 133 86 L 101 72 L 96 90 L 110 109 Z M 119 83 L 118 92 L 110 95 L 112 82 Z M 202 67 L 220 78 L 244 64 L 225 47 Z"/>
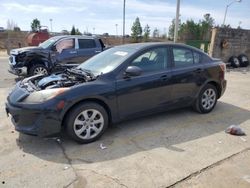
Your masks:
<path fill-rule="evenodd" d="M 134 58 L 128 66 L 137 66 L 142 74 L 116 81 L 120 118 L 166 107 L 171 101 L 171 70 L 167 47 L 149 49 Z"/>

